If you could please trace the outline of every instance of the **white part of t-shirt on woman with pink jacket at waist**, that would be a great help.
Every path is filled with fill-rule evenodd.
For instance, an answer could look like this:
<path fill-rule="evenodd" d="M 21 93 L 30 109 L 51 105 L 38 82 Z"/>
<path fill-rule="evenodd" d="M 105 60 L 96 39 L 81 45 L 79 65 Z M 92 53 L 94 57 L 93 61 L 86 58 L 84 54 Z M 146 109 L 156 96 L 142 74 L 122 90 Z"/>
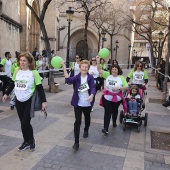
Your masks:
<path fill-rule="evenodd" d="M 112 93 L 118 93 L 120 90 L 115 90 L 114 92 L 112 89 L 114 87 L 122 87 L 123 82 L 119 76 L 113 77 L 112 75 L 108 76 L 106 79 L 106 89 Z M 113 96 L 112 95 L 104 95 L 104 98 L 108 101 L 112 101 Z M 121 97 L 117 96 L 117 100 L 120 101 Z"/>

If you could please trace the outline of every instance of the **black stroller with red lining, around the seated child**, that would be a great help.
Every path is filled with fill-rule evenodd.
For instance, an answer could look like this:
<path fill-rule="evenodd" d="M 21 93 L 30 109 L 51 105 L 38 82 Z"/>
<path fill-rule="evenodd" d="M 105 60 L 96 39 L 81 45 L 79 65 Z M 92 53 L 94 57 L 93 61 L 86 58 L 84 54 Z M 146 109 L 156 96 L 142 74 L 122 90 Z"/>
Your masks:
<path fill-rule="evenodd" d="M 132 88 L 134 84 L 129 85 L 129 89 L 125 91 L 124 96 L 126 101 L 128 102 L 127 96 L 130 93 L 130 89 Z M 136 84 L 135 84 L 136 85 Z M 145 91 L 146 88 L 144 88 L 142 85 L 137 85 L 139 88 L 139 94 L 140 94 L 140 100 L 138 100 L 138 108 L 137 112 L 135 114 L 131 114 L 128 108 L 127 113 L 124 113 L 123 110 L 120 111 L 119 115 L 119 121 L 120 123 L 123 123 L 123 131 L 126 130 L 127 125 L 129 124 L 135 124 L 137 125 L 137 132 L 140 132 L 140 126 L 142 125 L 142 120 L 144 121 L 144 126 L 147 126 L 148 121 L 148 113 L 145 113 L 145 116 L 142 116 L 142 111 L 145 109 L 145 97 L 147 95 L 147 92 Z M 127 103 L 128 106 L 128 103 Z"/>

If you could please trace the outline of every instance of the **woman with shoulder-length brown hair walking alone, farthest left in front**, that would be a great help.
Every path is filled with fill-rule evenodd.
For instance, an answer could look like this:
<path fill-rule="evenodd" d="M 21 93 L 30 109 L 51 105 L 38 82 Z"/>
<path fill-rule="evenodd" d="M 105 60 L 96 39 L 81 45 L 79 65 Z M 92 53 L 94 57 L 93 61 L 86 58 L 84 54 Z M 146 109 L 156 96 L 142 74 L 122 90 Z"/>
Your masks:
<path fill-rule="evenodd" d="M 33 128 L 31 126 L 31 101 L 32 95 L 37 88 L 40 100 L 42 102 L 42 110 L 46 111 L 47 103 L 45 93 L 41 84 L 41 79 L 38 71 L 35 70 L 34 58 L 30 53 L 21 53 L 18 58 L 19 68 L 15 69 L 12 77 L 12 83 L 8 87 L 2 100 L 5 102 L 7 96 L 14 88 L 16 95 L 16 109 L 21 122 L 21 130 L 24 142 L 18 148 L 18 151 L 23 151 L 27 148 L 30 151 L 35 150 L 35 139 Z"/>

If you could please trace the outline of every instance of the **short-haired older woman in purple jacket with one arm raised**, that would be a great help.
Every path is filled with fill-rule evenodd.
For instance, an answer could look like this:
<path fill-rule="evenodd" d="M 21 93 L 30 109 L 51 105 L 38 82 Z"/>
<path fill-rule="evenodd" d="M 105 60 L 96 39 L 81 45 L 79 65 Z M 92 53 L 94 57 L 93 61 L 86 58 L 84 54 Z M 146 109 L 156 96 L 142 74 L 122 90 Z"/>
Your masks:
<path fill-rule="evenodd" d="M 85 128 L 83 137 L 88 137 L 90 127 L 90 112 L 93 106 L 93 97 L 96 93 L 94 78 L 88 73 L 89 62 L 82 60 L 80 62 L 80 73 L 76 76 L 69 77 L 64 61 L 61 62 L 63 66 L 64 76 L 66 83 L 73 84 L 74 92 L 71 100 L 71 105 L 74 107 L 75 123 L 74 123 L 74 136 L 75 143 L 73 149 L 79 149 L 79 134 L 82 113 L 85 118 Z"/>

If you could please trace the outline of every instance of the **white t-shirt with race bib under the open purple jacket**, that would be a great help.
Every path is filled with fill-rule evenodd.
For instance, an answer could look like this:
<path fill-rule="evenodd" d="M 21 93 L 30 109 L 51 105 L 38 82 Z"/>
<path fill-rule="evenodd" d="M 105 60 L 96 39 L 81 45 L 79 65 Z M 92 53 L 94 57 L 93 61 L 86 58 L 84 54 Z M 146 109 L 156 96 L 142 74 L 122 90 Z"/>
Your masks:
<path fill-rule="evenodd" d="M 86 106 L 91 106 L 91 103 L 87 101 L 89 97 L 88 93 L 88 83 L 87 83 L 87 75 L 86 77 L 81 76 L 81 85 L 78 89 L 78 96 L 79 96 L 79 101 L 78 101 L 78 106 L 86 107 Z"/>

